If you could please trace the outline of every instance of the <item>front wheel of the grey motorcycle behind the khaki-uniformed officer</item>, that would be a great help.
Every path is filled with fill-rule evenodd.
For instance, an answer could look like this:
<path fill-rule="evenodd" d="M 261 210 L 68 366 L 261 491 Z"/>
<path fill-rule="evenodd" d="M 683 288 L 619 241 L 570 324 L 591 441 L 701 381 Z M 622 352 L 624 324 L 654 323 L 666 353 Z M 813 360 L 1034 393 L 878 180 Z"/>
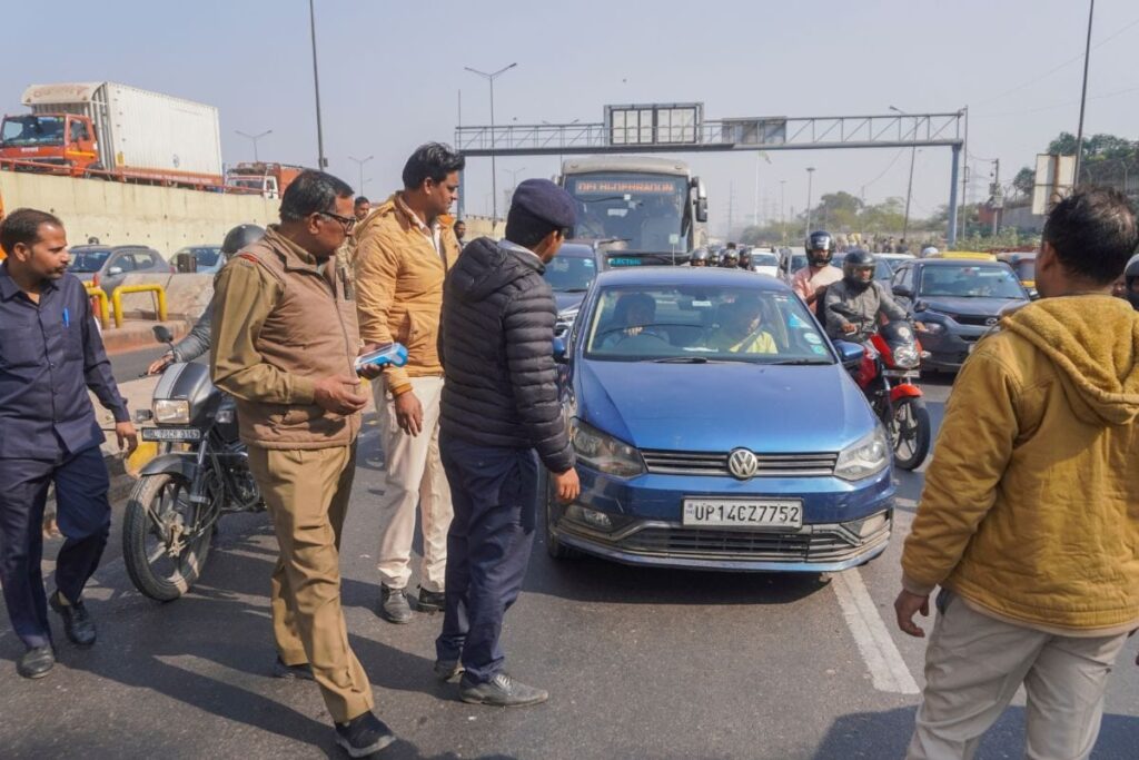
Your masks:
<path fill-rule="evenodd" d="M 123 516 L 123 561 L 134 588 L 158 602 L 190 590 L 210 557 L 213 525 L 202 524 L 206 514 L 207 505 L 190 501 L 190 483 L 181 475 L 139 479 Z"/>

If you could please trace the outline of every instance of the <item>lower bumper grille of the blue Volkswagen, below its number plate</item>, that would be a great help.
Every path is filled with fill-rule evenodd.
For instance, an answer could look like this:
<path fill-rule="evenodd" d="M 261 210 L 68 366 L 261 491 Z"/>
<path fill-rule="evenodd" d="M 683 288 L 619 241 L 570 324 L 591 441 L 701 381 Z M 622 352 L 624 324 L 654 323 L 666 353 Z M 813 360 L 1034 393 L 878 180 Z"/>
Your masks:
<path fill-rule="evenodd" d="M 870 537 L 877 544 L 882 532 Z M 634 554 L 680 557 L 772 559 L 784 562 L 841 561 L 866 548 L 868 542 L 837 532 L 772 533 L 706 528 L 646 528 L 620 542 Z"/>

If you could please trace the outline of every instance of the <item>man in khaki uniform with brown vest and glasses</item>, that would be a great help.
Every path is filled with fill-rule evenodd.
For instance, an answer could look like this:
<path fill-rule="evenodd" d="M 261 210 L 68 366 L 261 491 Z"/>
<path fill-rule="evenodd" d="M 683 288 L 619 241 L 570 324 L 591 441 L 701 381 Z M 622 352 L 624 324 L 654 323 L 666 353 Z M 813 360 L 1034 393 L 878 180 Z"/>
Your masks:
<path fill-rule="evenodd" d="M 355 223 L 352 188 L 304 172 L 286 189 L 280 216 L 219 275 L 213 379 L 237 399 L 249 469 L 280 544 L 277 675 L 314 679 L 337 742 L 363 757 L 394 736 L 371 712 L 371 685 L 341 610 L 341 529 L 367 403 L 353 368 L 355 304 L 335 256 Z"/>

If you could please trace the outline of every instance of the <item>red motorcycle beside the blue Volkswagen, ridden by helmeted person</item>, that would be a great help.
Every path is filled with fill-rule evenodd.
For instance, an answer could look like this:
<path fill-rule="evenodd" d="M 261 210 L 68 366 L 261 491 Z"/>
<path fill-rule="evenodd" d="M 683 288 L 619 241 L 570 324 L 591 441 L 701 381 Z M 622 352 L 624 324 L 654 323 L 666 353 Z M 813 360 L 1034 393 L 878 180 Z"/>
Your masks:
<path fill-rule="evenodd" d="M 921 344 L 911 325 L 894 321 L 866 336 L 863 350 L 854 381 L 886 426 L 895 464 L 917 469 L 929 455 L 932 436 L 929 411 L 913 383 L 920 375 Z"/>

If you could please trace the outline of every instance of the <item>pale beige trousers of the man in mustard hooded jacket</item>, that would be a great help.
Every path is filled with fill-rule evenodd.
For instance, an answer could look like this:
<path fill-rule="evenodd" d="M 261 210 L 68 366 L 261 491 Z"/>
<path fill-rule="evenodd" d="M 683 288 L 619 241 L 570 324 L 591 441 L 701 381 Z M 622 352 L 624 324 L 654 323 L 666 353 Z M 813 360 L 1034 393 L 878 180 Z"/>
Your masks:
<path fill-rule="evenodd" d="M 1027 744 L 1034 760 L 1091 754 L 1104 688 L 1125 634 L 1054 636 L 1002 622 L 950 595 L 926 651 L 926 688 L 910 760 L 967 760 L 1024 684 Z"/>

